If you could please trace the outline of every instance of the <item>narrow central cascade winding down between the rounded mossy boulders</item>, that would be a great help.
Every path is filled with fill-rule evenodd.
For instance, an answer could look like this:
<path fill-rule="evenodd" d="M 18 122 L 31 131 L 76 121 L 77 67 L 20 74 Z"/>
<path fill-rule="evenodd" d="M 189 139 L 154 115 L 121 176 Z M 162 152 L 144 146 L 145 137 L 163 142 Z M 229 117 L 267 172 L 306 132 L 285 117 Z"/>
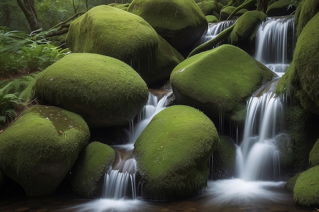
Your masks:
<path fill-rule="evenodd" d="M 153 91 L 155 92 L 155 91 Z M 130 141 L 124 145 L 112 146 L 116 153 L 116 161 L 104 177 L 103 198 L 106 199 L 136 199 L 136 160 L 133 156 L 134 143 L 149 124 L 155 114 L 165 109 L 165 101 L 171 90 L 156 95 L 149 92 L 147 104 L 141 114 L 141 120 L 130 125 Z"/>

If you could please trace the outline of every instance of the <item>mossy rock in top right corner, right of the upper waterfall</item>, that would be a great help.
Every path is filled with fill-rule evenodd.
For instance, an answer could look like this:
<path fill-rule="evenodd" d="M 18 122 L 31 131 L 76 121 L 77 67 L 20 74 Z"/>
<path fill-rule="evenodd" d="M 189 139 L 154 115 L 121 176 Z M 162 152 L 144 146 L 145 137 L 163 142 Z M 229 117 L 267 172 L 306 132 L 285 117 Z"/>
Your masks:
<path fill-rule="evenodd" d="M 300 36 L 303 28 L 308 21 L 319 11 L 319 2 L 312 0 L 303 0 L 298 5 L 295 15 L 295 25 L 297 38 Z"/>

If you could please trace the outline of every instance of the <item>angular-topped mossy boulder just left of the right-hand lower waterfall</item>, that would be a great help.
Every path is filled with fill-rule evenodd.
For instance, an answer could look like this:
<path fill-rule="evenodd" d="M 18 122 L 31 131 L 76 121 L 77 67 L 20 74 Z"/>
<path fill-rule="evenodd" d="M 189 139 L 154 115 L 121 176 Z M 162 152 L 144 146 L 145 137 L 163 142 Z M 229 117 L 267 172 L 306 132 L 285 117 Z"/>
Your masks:
<path fill-rule="evenodd" d="M 176 102 L 203 111 L 212 120 L 243 125 L 246 102 L 274 73 L 245 51 L 222 45 L 185 59 L 173 70 Z"/>

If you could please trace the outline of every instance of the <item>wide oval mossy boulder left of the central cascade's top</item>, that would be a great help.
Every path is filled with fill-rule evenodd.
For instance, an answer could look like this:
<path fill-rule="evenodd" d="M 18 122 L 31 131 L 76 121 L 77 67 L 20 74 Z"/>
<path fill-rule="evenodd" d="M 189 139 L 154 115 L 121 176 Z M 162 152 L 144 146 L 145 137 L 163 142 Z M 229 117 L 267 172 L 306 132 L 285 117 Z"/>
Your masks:
<path fill-rule="evenodd" d="M 71 53 L 38 74 L 35 95 L 81 115 L 90 127 L 126 125 L 141 111 L 148 88 L 118 59 Z"/>

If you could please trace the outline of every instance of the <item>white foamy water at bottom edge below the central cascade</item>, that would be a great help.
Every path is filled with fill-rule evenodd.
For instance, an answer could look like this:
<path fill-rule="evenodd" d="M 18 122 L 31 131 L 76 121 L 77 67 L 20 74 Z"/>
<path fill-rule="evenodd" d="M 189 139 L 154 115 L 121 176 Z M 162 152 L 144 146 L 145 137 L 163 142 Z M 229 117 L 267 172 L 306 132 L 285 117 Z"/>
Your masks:
<path fill-rule="evenodd" d="M 65 209 L 76 210 L 77 212 L 133 212 L 143 211 L 146 207 L 146 202 L 136 199 L 97 199 L 87 203 L 70 206 Z"/>

